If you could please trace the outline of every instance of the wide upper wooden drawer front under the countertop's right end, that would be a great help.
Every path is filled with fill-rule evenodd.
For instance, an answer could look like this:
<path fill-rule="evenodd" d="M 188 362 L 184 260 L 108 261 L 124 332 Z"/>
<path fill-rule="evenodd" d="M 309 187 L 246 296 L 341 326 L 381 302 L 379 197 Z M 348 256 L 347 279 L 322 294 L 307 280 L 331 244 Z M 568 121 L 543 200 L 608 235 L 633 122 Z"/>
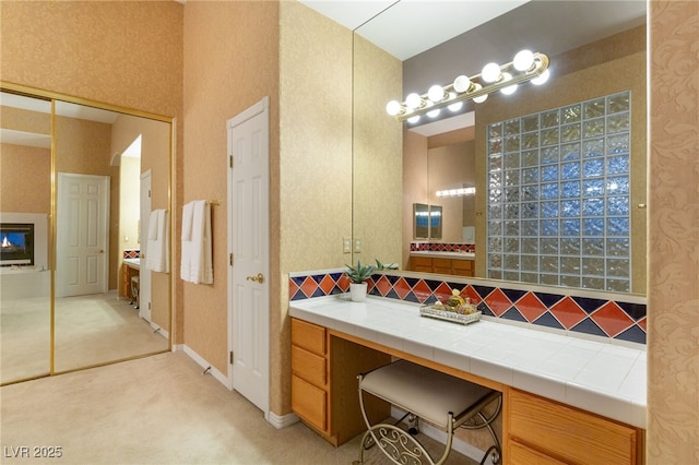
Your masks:
<path fill-rule="evenodd" d="M 510 390 L 510 440 L 576 464 L 635 464 L 637 430 Z"/>

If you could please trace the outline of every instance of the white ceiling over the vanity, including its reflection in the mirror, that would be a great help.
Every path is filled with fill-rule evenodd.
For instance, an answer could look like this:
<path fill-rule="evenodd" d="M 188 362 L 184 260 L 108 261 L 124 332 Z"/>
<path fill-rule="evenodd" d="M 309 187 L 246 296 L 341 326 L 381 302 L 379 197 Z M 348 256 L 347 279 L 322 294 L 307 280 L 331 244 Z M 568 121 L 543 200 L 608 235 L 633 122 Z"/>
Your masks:
<path fill-rule="evenodd" d="M 556 49 L 545 52 L 556 55 L 640 24 L 647 9 L 645 0 L 299 1 L 356 29 L 401 61 L 460 35 L 466 48 L 469 44 L 482 45 L 478 36 L 484 27 L 478 26 L 489 22 L 494 22 L 490 29 L 495 32 L 488 36 L 488 44 L 494 47 L 548 36 L 556 37 L 552 44 Z"/>

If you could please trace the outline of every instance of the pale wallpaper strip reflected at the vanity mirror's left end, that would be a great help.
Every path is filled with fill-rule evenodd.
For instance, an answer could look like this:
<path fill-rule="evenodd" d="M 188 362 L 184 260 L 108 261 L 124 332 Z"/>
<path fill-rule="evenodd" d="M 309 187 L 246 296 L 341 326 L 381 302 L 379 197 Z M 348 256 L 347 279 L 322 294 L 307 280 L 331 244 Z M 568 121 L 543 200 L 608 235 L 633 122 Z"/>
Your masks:
<path fill-rule="evenodd" d="M 403 95 L 402 68 L 395 57 L 355 36 L 352 228 L 362 243 L 355 262 L 401 262 L 403 124 L 384 108 Z"/>

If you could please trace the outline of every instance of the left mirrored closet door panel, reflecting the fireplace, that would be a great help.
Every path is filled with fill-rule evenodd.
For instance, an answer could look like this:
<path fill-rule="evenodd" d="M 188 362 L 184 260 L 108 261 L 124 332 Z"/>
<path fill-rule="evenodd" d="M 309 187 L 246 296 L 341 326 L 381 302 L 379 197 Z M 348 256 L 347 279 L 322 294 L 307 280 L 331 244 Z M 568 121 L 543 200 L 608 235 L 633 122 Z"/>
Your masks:
<path fill-rule="evenodd" d="M 50 112 L 49 100 L 0 94 L 0 383 L 50 370 Z"/>

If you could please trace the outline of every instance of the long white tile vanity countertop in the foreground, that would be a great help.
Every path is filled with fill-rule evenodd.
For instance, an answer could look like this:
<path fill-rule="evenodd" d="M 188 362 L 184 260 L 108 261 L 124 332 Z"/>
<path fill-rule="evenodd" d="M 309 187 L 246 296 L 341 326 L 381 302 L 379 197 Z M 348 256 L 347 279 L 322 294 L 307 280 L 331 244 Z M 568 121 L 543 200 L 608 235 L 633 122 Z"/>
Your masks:
<path fill-rule="evenodd" d="M 292 301 L 289 314 L 645 429 L 645 350 L 498 323 L 461 325 L 419 305 L 348 295 Z"/>

